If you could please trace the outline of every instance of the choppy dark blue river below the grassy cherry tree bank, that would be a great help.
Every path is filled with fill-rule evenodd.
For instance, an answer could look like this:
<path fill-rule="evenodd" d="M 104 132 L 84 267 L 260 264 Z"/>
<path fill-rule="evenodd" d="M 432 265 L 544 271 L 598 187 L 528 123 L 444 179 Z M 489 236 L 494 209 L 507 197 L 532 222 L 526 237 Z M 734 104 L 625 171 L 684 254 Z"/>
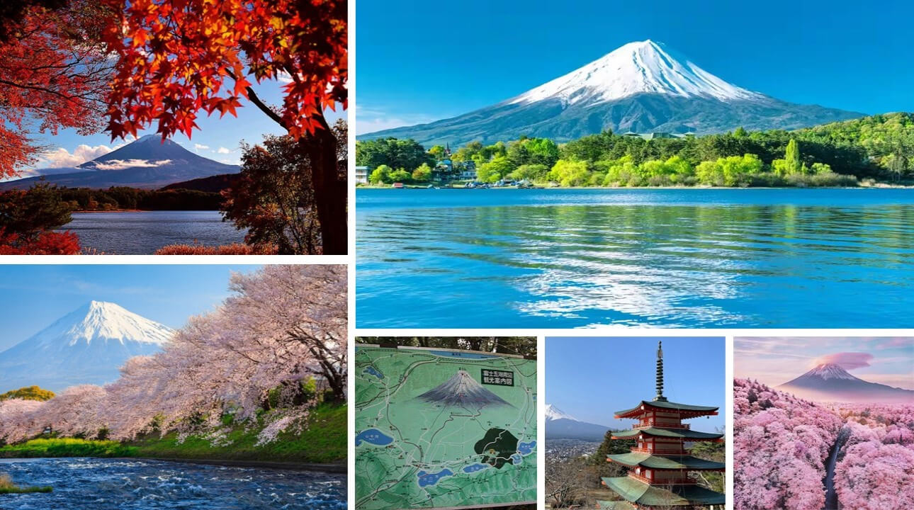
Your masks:
<path fill-rule="evenodd" d="M 0 494 L 4 510 L 345 510 L 345 474 L 121 459 L 0 460 L 19 485 L 48 494 Z"/>

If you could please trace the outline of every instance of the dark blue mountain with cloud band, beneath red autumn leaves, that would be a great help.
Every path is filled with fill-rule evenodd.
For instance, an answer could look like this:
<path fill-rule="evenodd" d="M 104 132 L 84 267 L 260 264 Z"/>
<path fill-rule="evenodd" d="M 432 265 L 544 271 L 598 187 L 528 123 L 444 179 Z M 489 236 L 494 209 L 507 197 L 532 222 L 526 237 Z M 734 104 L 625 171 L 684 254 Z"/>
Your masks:
<path fill-rule="evenodd" d="M 176 182 L 219 174 L 237 174 L 238 165 L 226 165 L 194 154 L 171 140 L 147 134 L 133 143 L 103 154 L 77 168 L 48 169 L 47 175 L 0 183 L 0 189 L 27 189 L 37 182 L 67 187 L 103 189 L 131 186 L 156 189 Z M 44 171 L 37 170 L 39 174 Z"/>

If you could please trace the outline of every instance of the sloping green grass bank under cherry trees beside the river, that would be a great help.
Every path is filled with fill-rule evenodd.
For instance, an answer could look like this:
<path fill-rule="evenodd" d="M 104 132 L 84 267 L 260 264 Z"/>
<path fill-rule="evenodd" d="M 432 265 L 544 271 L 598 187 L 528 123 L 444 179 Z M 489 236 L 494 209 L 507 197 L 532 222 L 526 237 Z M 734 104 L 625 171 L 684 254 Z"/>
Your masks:
<path fill-rule="evenodd" d="M 212 446 L 191 436 L 180 444 L 177 434 L 133 441 L 136 457 L 218 459 L 232 461 L 336 462 L 346 456 L 346 407 L 321 404 L 311 410 L 308 428 L 301 434 L 283 432 L 277 441 L 255 446 L 260 428 L 235 426 L 227 434 L 231 444 Z"/>

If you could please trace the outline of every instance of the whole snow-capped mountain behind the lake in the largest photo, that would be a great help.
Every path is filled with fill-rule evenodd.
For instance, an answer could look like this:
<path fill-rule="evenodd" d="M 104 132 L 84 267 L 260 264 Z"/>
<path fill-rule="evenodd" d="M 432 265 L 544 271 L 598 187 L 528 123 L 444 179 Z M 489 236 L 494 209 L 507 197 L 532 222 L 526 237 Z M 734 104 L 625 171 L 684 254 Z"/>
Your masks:
<path fill-rule="evenodd" d="M 413 138 L 423 145 L 514 140 L 566 142 L 614 133 L 724 133 L 794 129 L 863 116 L 780 101 L 740 88 L 652 40 L 632 42 L 507 101 L 452 119 L 360 135 Z"/>

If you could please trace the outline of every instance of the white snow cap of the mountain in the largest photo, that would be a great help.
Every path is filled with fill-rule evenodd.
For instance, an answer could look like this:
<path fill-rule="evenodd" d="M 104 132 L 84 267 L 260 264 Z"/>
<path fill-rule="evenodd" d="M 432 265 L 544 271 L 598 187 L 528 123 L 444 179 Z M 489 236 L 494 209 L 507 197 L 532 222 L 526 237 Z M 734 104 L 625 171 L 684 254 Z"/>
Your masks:
<path fill-rule="evenodd" d="M 650 39 L 631 42 L 565 76 L 508 100 L 527 104 L 558 99 L 565 104 L 614 101 L 635 94 L 663 94 L 719 101 L 765 96 L 721 80 Z"/>

